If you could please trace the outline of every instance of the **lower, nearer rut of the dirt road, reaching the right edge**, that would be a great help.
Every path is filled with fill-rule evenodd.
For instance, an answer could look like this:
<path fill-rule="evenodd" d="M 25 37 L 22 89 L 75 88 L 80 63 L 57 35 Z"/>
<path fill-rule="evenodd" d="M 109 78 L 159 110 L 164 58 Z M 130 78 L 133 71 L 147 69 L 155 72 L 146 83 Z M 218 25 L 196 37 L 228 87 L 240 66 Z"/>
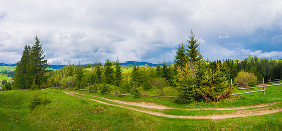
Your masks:
<path fill-rule="evenodd" d="M 73 96 L 77 96 L 77 97 L 86 98 L 86 99 L 93 100 L 93 101 L 96 101 L 96 102 L 99 102 L 99 103 L 102 103 L 102 104 L 106 104 L 106 105 L 118 106 L 118 107 L 127 108 L 127 109 L 131 109 L 131 110 L 139 111 L 139 112 L 144 112 L 144 113 L 157 115 L 157 116 L 170 117 L 170 118 L 225 119 L 225 118 L 233 118 L 233 117 L 246 117 L 246 116 L 253 116 L 253 115 L 263 115 L 263 114 L 269 114 L 269 113 L 275 113 L 275 112 L 282 111 L 282 108 L 274 109 L 274 110 L 269 110 L 269 108 L 265 108 L 265 109 L 253 109 L 253 110 L 238 110 L 238 111 L 234 112 L 233 114 L 222 114 L 222 115 L 208 115 L 208 116 L 171 115 L 171 114 L 165 114 L 165 113 L 162 113 L 162 112 L 155 112 L 155 111 L 150 111 L 150 110 L 136 109 L 136 108 L 133 108 L 133 107 L 126 107 L 126 106 L 123 106 L 123 105 L 110 104 L 110 103 L 103 102 L 103 101 L 100 101 L 100 100 L 95 100 L 95 99 L 75 95 L 75 94 L 72 94 L 70 92 L 64 92 L 64 93 L 69 94 L 69 95 L 73 95 Z"/>

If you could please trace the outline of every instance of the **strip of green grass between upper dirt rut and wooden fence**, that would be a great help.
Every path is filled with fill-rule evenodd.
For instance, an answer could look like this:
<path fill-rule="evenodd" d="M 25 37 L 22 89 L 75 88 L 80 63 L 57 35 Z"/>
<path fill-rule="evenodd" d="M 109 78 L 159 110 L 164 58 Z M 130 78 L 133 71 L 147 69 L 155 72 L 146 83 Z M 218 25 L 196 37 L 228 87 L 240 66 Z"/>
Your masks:
<path fill-rule="evenodd" d="M 234 93 L 248 92 L 248 91 L 254 91 L 254 90 L 261 90 L 261 89 L 262 88 L 237 90 Z M 95 96 L 100 96 L 100 97 L 105 97 L 105 98 L 110 98 L 110 99 L 125 100 L 125 101 L 154 102 L 154 103 L 163 104 L 169 107 L 179 107 L 179 108 L 212 108 L 212 107 L 227 108 L 227 107 L 239 107 L 239 106 L 250 106 L 250 105 L 254 106 L 258 104 L 282 102 L 282 97 L 281 97 L 282 96 L 282 85 L 265 87 L 265 89 L 266 89 L 265 95 L 263 95 L 263 92 L 255 92 L 255 93 L 231 96 L 230 98 L 216 101 L 216 102 L 215 101 L 209 102 L 209 103 L 199 102 L 199 103 L 188 104 L 188 105 L 187 104 L 178 104 L 178 103 L 173 102 L 175 98 L 152 98 L 152 97 L 133 98 L 130 96 L 117 97 L 115 95 L 110 95 L 110 94 L 102 95 L 101 93 L 95 93 L 95 92 L 89 93 L 88 91 L 77 91 L 77 92 L 81 94 L 91 94 Z"/>

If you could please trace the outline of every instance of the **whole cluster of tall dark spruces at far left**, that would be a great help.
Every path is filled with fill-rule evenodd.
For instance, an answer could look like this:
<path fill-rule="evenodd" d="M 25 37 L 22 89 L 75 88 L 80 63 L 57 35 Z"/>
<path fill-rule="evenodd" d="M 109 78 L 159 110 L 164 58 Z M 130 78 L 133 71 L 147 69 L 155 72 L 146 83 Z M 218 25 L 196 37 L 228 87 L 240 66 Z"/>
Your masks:
<path fill-rule="evenodd" d="M 18 62 L 15 70 L 14 86 L 19 89 L 34 89 L 31 87 L 32 84 L 39 87 L 44 83 L 44 75 L 48 72 L 49 64 L 44 59 L 45 55 L 40 40 L 37 36 L 35 40 L 32 47 L 25 46 L 21 61 Z"/>

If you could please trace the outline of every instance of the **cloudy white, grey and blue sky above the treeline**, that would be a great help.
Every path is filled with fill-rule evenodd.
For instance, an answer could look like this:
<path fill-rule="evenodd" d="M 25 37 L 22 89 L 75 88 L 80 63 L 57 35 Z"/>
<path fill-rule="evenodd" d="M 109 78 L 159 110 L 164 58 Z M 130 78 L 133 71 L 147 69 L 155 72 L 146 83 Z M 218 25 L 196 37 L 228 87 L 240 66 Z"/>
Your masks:
<path fill-rule="evenodd" d="M 4 1 L 0 63 L 38 36 L 49 64 L 172 62 L 194 31 L 205 59 L 282 59 L 282 1 Z"/>

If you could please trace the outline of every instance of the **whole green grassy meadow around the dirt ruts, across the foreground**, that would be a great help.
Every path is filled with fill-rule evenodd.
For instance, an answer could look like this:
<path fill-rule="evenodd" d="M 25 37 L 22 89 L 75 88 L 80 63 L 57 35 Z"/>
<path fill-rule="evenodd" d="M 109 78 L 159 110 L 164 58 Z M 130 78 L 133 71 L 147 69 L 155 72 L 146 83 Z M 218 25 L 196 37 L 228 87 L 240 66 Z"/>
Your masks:
<path fill-rule="evenodd" d="M 51 89 L 52 91 L 0 91 L 0 130 L 279 130 L 282 128 L 281 112 L 218 120 L 168 118 L 104 105 L 89 99 L 65 94 L 61 92 L 62 90 Z M 29 109 L 28 104 L 34 92 L 39 92 L 40 96 L 48 97 L 52 102 L 39 105 L 34 110 Z M 89 93 L 88 91 L 77 92 Z M 172 107 L 206 108 L 281 102 L 281 93 L 282 86 L 272 86 L 266 89 L 265 95 L 262 92 L 257 92 L 236 96 L 229 100 L 193 105 L 176 104 L 166 98 L 130 98 L 101 95 L 99 93 L 90 94 L 127 101 L 153 101 Z M 94 99 L 92 96 L 87 97 Z M 278 103 L 278 106 L 281 107 L 281 104 Z M 209 112 L 206 110 L 175 109 L 159 111 L 167 114 L 177 112 L 179 115 L 229 113 L 229 111 Z"/>

